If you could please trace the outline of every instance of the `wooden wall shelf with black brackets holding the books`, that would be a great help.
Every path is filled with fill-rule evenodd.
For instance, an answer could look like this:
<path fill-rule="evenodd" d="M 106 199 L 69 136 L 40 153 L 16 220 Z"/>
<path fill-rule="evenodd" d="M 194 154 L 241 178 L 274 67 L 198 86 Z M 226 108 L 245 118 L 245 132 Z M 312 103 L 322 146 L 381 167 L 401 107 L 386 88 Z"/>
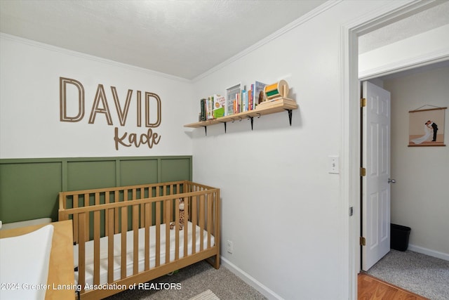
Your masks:
<path fill-rule="evenodd" d="M 238 114 L 229 115 L 225 117 L 219 117 L 217 119 L 208 119 L 207 121 L 196 122 L 192 124 L 185 124 L 185 127 L 189 128 L 199 128 L 204 127 L 204 130 L 207 134 L 207 126 L 215 125 L 215 124 L 225 124 L 225 132 L 226 132 L 226 124 L 227 122 L 235 122 L 241 121 L 242 119 L 250 119 L 251 121 L 251 129 L 253 129 L 253 118 L 260 117 L 262 115 L 270 115 L 276 112 L 288 112 L 288 120 L 290 122 L 290 126 L 292 124 L 292 110 L 297 109 L 297 104 L 295 100 L 291 100 L 288 98 L 281 98 L 274 101 L 267 101 L 260 103 L 257 105 L 255 110 L 248 110 L 247 112 L 239 112 Z"/>

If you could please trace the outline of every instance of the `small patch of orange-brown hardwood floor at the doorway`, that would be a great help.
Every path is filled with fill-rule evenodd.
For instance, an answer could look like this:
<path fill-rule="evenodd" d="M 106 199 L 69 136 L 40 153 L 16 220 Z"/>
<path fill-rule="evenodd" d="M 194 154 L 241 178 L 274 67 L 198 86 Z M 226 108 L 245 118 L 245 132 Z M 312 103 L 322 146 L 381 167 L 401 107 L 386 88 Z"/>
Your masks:
<path fill-rule="evenodd" d="M 358 274 L 358 300 L 429 300 L 366 273 Z"/>

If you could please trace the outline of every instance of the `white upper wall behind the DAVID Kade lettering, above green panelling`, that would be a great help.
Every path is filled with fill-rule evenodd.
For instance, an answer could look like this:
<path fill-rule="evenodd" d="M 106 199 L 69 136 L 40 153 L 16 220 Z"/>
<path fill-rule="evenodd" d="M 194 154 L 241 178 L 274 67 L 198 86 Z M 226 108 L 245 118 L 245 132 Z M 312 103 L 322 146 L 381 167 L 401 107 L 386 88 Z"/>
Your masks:
<path fill-rule="evenodd" d="M 0 38 L 0 158 L 191 155 L 192 141 L 182 131 L 190 121 L 185 113 L 191 109 L 189 81 L 7 34 Z M 60 77 L 83 85 L 86 108 L 79 122 L 60 122 Z M 88 124 L 99 84 L 105 88 L 112 125 L 104 114 Z M 128 89 L 133 90 L 125 126 L 119 124 L 111 86 L 116 87 L 122 107 Z M 152 129 L 161 139 L 152 148 L 119 145 L 116 150 L 115 127 L 119 136 L 127 132 L 140 138 L 147 133 L 145 115 L 143 125 L 137 126 L 137 91 L 142 91 L 142 107 L 145 91 L 161 98 L 161 125 Z M 68 115 L 78 112 L 77 97 L 78 93 L 67 96 L 72 107 Z M 150 107 L 152 122 L 157 121 L 154 111 L 156 106 Z"/>

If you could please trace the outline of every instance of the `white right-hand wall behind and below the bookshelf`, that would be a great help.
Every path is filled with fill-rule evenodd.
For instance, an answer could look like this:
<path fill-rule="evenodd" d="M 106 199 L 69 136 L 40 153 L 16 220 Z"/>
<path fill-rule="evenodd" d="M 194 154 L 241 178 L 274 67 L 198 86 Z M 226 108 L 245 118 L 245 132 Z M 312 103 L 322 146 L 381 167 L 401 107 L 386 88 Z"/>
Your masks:
<path fill-rule="evenodd" d="M 388 1 L 387 1 L 388 2 Z M 222 190 L 225 261 L 283 299 L 347 299 L 348 233 L 340 214 L 340 176 L 328 174 L 328 155 L 340 155 L 341 25 L 384 1 L 343 1 L 222 65 L 195 82 L 200 98 L 228 86 L 286 79 L 300 108 L 287 113 L 192 131 L 194 180 Z M 250 30 L 248 30 L 250 34 Z M 192 117 L 193 119 L 193 117 Z M 358 137 L 354 137 L 358 138 Z M 340 279 L 342 278 L 342 279 Z"/>

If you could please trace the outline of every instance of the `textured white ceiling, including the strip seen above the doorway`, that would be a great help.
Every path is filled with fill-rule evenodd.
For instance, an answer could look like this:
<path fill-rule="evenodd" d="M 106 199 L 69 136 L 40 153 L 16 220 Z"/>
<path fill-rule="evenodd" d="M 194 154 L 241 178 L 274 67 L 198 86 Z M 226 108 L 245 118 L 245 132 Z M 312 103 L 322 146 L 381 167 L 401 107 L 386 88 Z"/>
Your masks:
<path fill-rule="evenodd" d="M 326 0 L 0 0 L 0 32 L 194 79 Z M 359 38 L 360 53 L 448 24 L 449 1 Z"/>

